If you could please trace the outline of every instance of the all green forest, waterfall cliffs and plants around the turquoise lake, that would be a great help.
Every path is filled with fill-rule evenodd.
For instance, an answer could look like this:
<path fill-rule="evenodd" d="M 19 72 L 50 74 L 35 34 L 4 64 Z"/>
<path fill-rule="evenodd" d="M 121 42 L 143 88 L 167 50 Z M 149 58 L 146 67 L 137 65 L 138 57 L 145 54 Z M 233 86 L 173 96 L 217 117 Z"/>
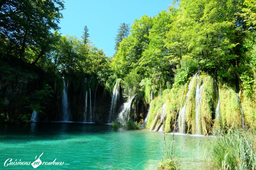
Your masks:
<path fill-rule="evenodd" d="M 61 35 L 63 9 L 61 0 L 0 2 L 0 123 L 29 123 L 35 111 L 37 121 L 114 122 L 227 141 L 238 134 L 232 146 L 216 139 L 213 160 L 256 168 L 255 1 L 174 1 L 121 23 L 113 56 L 94 45 L 87 26 L 82 37 Z M 244 138 L 249 149 L 219 154 Z M 175 159 L 161 166 L 179 169 Z"/>

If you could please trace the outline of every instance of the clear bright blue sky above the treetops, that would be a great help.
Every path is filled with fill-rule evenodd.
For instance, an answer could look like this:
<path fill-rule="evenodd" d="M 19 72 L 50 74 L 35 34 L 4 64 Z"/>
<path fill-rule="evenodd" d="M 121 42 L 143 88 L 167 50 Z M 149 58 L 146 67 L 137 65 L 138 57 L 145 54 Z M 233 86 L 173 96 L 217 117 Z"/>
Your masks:
<path fill-rule="evenodd" d="M 112 56 L 120 23 L 131 25 L 134 19 L 143 15 L 156 16 L 169 4 L 170 0 L 66 0 L 59 32 L 62 35 L 75 34 L 80 38 L 87 25 L 89 39 L 102 48 L 107 56 Z"/>

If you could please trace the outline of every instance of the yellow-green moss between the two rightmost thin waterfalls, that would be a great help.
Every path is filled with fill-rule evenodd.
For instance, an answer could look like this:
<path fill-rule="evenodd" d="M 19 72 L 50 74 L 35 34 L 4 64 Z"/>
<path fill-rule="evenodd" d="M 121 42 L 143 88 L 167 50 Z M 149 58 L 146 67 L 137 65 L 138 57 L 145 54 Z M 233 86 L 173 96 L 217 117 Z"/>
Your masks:
<path fill-rule="evenodd" d="M 219 88 L 220 98 L 220 124 L 226 126 L 238 127 L 241 125 L 241 112 L 239 110 L 239 102 L 234 89 L 224 83 Z"/>

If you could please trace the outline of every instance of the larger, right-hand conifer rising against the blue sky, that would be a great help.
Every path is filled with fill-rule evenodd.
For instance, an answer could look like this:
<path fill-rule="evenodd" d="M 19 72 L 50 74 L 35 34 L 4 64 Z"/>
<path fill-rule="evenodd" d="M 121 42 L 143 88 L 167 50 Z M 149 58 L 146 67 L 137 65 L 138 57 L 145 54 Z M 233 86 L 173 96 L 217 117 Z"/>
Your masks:
<path fill-rule="evenodd" d="M 130 24 L 125 24 L 124 22 L 121 23 L 118 29 L 118 34 L 115 38 L 115 51 L 118 51 L 118 47 L 120 42 L 125 38 L 128 37 L 130 31 Z"/>

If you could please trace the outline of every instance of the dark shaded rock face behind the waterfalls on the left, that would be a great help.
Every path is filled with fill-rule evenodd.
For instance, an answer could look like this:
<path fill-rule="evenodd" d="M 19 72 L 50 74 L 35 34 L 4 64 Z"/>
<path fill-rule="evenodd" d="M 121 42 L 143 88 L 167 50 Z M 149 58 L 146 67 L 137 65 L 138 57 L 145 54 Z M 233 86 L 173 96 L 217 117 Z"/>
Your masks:
<path fill-rule="evenodd" d="M 52 77 L 38 68 L 32 68 L 26 64 L 16 68 L 7 63 L 0 67 L 0 123 L 4 122 L 29 122 L 33 110 L 28 107 L 28 96 L 35 90 L 42 90 L 45 84 L 51 86 L 54 93 L 50 101 L 44 104 L 43 112 L 39 114 L 38 121 L 63 121 L 63 80 L 61 77 Z M 30 68 L 28 70 L 27 68 Z M 111 102 L 111 94 L 104 92 L 104 87 L 88 77 L 88 82 L 65 78 L 67 88 L 67 100 L 70 110 L 69 121 L 83 122 L 85 110 L 86 91 L 91 89 L 92 120 L 96 123 L 107 123 Z M 90 81 L 94 81 L 93 83 Z M 91 87 L 90 87 L 91 86 Z M 88 111 L 90 104 L 88 103 Z M 89 116 L 89 114 L 87 114 Z M 89 117 L 88 119 L 89 120 Z"/>

